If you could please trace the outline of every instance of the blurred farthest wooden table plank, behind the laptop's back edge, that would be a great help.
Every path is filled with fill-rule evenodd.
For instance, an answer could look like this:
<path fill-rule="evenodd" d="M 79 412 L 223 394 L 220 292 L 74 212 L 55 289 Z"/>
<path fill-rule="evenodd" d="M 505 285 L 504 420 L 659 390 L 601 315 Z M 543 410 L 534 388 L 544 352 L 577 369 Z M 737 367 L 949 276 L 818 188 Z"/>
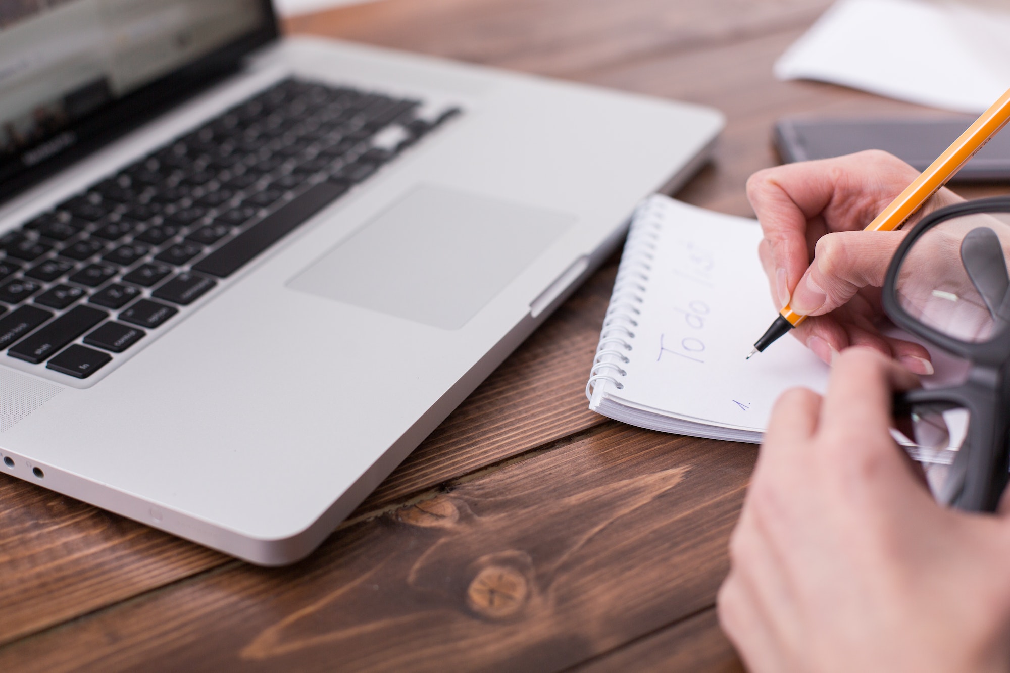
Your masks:
<path fill-rule="evenodd" d="M 292 19 L 311 32 L 582 79 L 615 63 L 807 26 L 830 0 L 393 0 Z"/>

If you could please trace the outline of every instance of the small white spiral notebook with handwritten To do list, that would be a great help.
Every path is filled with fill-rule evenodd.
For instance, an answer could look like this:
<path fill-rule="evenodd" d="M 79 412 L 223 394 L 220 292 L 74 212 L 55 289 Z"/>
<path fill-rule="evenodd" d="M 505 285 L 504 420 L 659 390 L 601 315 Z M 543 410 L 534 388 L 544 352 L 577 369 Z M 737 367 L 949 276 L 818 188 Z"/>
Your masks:
<path fill-rule="evenodd" d="M 761 442 L 776 398 L 828 368 L 775 317 L 758 221 L 651 196 L 635 211 L 586 386 L 590 408 L 667 432 Z"/>

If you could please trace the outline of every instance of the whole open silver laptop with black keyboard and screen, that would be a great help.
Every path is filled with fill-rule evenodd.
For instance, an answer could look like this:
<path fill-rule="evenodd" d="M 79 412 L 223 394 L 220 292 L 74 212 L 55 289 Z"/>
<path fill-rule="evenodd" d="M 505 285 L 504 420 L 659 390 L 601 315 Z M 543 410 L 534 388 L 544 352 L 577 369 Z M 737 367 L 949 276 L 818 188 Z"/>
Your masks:
<path fill-rule="evenodd" d="M 263 565 L 319 545 L 723 123 L 281 39 L 269 0 L 4 0 L 0 25 L 0 471 Z"/>

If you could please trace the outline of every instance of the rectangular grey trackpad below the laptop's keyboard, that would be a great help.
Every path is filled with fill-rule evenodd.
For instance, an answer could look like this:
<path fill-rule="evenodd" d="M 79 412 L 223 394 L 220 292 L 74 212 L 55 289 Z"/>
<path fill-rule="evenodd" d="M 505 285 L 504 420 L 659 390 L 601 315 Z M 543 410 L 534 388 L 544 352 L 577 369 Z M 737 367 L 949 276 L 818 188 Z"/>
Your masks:
<path fill-rule="evenodd" d="M 419 187 L 312 263 L 288 287 L 459 329 L 575 219 Z"/>

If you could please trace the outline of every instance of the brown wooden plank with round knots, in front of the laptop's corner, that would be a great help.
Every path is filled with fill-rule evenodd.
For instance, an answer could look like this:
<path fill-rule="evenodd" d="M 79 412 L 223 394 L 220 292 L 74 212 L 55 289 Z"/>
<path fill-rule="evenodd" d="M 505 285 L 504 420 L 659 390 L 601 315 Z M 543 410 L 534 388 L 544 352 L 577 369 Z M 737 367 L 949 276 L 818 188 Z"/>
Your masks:
<path fill-rule="evenodd" d="M 703 609 L 752 446 L 608 423 L 339 532 L 0 650 L 0 670 L 549 671 Z"/>

